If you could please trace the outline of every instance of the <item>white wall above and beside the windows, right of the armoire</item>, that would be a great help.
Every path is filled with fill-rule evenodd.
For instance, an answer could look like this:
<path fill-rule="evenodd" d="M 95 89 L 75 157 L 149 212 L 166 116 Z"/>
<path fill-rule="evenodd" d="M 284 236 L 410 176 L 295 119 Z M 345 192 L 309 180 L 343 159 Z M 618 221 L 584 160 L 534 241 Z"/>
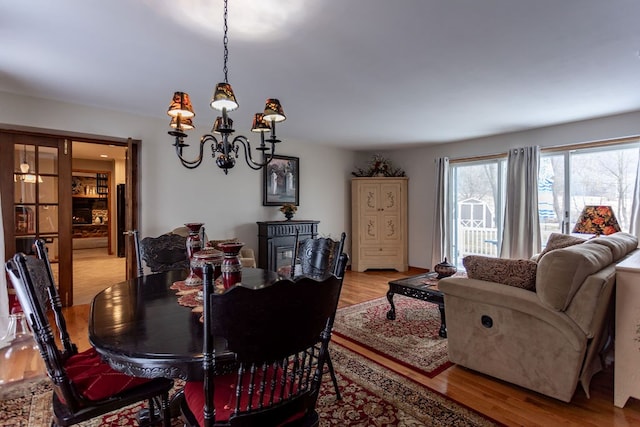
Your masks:
<path fill-rule="evenodd" d="M 435 159 L 507 153 L 510 148 L 552 147 L 640 135 L 640 112 L 514 132 L 450 144 L 381 152 L 409 177 L 409 265 L 431 268 Z"/>

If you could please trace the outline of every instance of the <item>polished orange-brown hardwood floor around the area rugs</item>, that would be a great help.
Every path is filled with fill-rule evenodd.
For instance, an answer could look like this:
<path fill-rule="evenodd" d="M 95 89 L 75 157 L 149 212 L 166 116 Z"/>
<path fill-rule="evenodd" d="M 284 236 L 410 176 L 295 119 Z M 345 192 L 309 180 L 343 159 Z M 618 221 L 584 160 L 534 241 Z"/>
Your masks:
<path fill-rule="evenodd" d="M 389 280 L 419 274 L 422 271 L 347 271 L 339 306 L 344 307 L 384 296 Z M 81 349 L 88 348 L 89 306 L 69 307 L 64 313 L 69 333 L 75 342 Z M 593 378 L 590 399 L 587 399 L 578 387 L 572 402 L 564 403 L 458 366 L 452 366 L 436 377 L 428 378 L 340 337 L 334 336 L 333 340 L 508 426 L 640 425 L 640 401 L 629 399 L 624 409 L 613 406 L 612 366 Z M 3 361 L 0 375 L 5 366 L 7 363 Z"/>

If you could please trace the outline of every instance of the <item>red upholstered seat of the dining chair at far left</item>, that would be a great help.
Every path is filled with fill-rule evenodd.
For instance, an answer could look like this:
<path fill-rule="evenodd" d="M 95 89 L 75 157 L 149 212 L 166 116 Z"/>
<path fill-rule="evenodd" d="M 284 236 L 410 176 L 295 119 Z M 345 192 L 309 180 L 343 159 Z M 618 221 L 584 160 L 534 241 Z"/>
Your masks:
<path fill-rule="evenodd" d="M 76 390 L 92 401 L 106 399 L 150 381 L 114 370 L 94 348 L 74 354 L 65 362 L 64 368 Z"/>

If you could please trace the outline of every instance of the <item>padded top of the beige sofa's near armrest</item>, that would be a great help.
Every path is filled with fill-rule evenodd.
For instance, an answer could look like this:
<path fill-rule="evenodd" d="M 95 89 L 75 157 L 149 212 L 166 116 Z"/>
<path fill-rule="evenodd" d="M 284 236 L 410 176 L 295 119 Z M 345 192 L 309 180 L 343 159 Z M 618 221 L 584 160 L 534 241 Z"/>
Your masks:
<path fill-rule="evenodd" d="M 580 327 L 564 312 L 553 311 L 542 304 L 535 292 L 464 277 L 442 279 L 438 288 L 444 293 L 447 318 L 455 315 L 447 311 L 447 298 L 458 297 L 528 314 L 560 330 L 576 351 L 584 346 L 585 334 Z"/>

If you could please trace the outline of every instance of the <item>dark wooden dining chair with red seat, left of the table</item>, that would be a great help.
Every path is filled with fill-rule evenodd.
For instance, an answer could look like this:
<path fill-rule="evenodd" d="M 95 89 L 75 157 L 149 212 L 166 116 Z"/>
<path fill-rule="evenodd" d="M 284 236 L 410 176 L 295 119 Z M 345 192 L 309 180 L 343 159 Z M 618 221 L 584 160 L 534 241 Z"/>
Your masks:
<path fill-rule="evenodd" d="M 170 425 L 168 396 L 173 381 L 123 374 L 112 369 L 93 348 L 78 353 L 70 340 L 64 351 L 58 348 L 47 316 L 48 303 L 56 323 L 64 317 L 58 312 L 60 298 L 47 260 L 18 253 L 5 268 L 53 384 L 52 425 L 78 424 L 144 400 L 149 402 L 148 419 L 141 420 L 145 425 Z"/>

